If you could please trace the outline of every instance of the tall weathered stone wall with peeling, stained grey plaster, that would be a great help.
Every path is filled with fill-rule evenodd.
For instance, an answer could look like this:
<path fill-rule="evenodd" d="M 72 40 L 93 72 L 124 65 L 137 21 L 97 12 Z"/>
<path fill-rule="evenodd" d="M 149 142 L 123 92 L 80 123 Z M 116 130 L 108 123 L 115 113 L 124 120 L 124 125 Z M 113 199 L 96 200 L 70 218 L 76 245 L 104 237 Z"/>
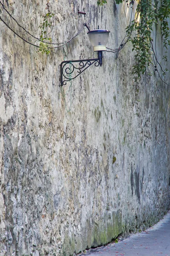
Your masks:
<path fill-rule="evenodd" d="M 39 35 L 45 0 L 4 5 Z M 101 8 L 96 0 L 51 0 L 54 42 L 80 29 L 78 8 L 91 29 L 111 31 L 108 47 L 119 46 L 130 11 L 114 1 Z M 2 6 L 0 16 L 36 43 Z M 117 60 L 106 52 L 102 67 L 72 81 L 67 112 L 59 88 L 67 49 L 42 55 L 0 25 L 0 256 L 69 256 L 158 221 L 170 204 L 170 87 L 153 67 L 134 82 L 128 43 Z M 93 56 L 84 29 L 67 59 Z M 69 92 L 65 99 L 69 109 Z"/>

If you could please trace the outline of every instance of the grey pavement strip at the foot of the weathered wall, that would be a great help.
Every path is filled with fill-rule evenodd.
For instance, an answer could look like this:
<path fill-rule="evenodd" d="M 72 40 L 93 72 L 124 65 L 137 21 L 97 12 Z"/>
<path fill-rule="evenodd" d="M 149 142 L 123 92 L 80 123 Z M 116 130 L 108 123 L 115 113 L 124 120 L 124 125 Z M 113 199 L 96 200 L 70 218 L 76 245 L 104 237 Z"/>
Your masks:
<path fill-rule="evenodd" d="M 170 211 L 156 225 L 88 253 L 89 256 L 170 256 Z"/>

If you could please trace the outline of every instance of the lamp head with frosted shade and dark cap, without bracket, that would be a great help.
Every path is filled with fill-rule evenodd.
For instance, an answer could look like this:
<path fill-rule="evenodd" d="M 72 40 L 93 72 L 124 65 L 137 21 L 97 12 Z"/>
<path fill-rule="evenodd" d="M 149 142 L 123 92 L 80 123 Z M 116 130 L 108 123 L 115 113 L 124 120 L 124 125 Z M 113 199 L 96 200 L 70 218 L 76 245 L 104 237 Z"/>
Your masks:
<path fill-rule="evenodd" d="M 106 29 L 96 29 L 88 31 L 89 40 L 93 45 L 94 52 L 106 50 L 109 33 L 110 31 Z"/>

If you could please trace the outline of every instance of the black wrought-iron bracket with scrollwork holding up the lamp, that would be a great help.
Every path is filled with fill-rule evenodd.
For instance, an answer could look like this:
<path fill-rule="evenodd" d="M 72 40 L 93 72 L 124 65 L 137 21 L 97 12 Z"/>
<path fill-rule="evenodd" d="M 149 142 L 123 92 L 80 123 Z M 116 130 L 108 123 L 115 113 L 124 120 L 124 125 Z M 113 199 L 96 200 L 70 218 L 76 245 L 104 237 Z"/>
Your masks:
<path fill-rule="evenodd" d="M 79 63 L 77 66 L 74 63 Z M 92 64 L 95 67 L 102 66 L 102 51 L 98 52 L 98 58 L 74 61 L 62 61 L 60 64 L 60 85 L 65 85 L 68 81 L 75 79 Z M 76 72 L 77 71 L 77 72 Z M 72 74 L 74 73 L 73 77 Z"/>

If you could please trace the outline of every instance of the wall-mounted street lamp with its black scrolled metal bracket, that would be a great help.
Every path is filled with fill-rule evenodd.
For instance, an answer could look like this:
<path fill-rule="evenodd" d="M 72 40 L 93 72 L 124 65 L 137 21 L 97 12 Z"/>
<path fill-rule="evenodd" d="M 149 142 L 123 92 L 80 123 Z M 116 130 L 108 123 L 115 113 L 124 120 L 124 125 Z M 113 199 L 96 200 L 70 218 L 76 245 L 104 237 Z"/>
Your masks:
<path fill-rule="evenodd" d="M 106 50 L 109 33 L 110 31 L 106 29 L 95 29 L 88 31 L 89 40 L 93 46 L 94 52 L 98 52 L 98 58 L 62 61 L 62 63 L 60 64 L 60 86 L 63 86 L 68 81 L 75 79 L 92 64 L 94 64 L 95 67 L 98 67 L 99 65 L 100 67 L 102 66 L 102 52 Z M 79 63 L 78 67 L 74 65 L 74 63 L 77 62 Z M 74 77 L 72 77 L 71 75 L 75 70 L 77 70 L 77 73 Z"/>

